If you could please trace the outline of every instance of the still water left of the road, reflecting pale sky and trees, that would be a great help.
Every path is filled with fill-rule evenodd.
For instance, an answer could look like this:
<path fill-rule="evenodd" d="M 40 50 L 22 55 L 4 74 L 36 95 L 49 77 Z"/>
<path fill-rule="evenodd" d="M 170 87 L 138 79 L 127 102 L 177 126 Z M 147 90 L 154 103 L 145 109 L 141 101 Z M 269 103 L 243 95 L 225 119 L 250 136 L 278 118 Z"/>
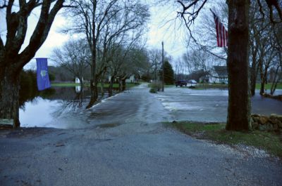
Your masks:
<path fill-rule="evenodd" d="M 106 98 L 104 95 L 103 98 Z M 102 96 L 99 96 L 101 101 Z M 20 126 L 66 128 L 80 121 L 76 113 L 85 112 L 90 100 L 90 89 L 54 87 L 38 92 L 32 90 L 20 94 Z M 63 121 L 62 121 L 63 118 Z M 81 121 L 83 123 L 83 121 Z"/>

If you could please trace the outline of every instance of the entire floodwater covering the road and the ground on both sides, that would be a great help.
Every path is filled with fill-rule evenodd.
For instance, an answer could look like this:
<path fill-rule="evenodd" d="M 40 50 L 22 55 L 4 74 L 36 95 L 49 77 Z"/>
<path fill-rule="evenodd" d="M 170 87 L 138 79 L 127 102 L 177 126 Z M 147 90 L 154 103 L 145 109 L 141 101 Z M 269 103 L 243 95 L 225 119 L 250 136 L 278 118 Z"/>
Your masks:
<path fill-rule="evenodd" d="M 111 128 L 173 120 L 225 122 L 227 117 L 227 90 L 165 88 L 164 93 L 152 94 L 142 84 L 85 109 L 89 98 L 87 90 L 80 95 L 75 88 L 55 88 L 52 95 L 25 102 L 20 109 L 21 126 Z M 281 108 L 281 101 L 258 93 L 252 98 L 253 114 L 282 114 Z"/>

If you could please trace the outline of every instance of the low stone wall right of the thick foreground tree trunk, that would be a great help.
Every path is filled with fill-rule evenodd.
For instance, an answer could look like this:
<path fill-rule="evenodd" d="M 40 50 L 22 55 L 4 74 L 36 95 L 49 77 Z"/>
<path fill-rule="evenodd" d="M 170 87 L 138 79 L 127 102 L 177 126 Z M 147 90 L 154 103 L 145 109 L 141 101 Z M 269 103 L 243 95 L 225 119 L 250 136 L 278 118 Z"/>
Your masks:
<path fill-rule="evenodd" d="M 259 131 L 282 131 L 282 115 L 271 114 L 270 117 L 259 114 L 251 116 L 252 129 Z"/>

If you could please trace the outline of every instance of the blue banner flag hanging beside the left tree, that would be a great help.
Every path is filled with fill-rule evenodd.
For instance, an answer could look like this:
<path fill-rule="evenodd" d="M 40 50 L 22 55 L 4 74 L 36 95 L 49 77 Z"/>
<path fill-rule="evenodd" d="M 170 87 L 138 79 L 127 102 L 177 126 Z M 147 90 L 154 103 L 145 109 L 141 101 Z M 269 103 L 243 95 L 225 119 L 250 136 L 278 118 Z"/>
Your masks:
<path fill-rule="evenodd" d="M 42 91 L 46 88 L 50 88 L 47 58 L 36 58 L 37 64 L 37 88 Z"/>

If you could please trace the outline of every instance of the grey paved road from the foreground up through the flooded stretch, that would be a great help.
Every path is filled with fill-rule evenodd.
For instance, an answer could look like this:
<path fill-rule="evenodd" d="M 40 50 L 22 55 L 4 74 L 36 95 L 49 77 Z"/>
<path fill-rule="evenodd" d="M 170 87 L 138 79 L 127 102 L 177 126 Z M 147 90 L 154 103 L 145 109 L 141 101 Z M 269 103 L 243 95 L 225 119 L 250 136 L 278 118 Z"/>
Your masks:
<path fill-rule="evenodd" d="M 182 117 L 169 93 L 139 86 L 71 114 L 67 129 L 0 131 L 0 185 L 282 185 L 280 160 L 161 124 Z"/>

